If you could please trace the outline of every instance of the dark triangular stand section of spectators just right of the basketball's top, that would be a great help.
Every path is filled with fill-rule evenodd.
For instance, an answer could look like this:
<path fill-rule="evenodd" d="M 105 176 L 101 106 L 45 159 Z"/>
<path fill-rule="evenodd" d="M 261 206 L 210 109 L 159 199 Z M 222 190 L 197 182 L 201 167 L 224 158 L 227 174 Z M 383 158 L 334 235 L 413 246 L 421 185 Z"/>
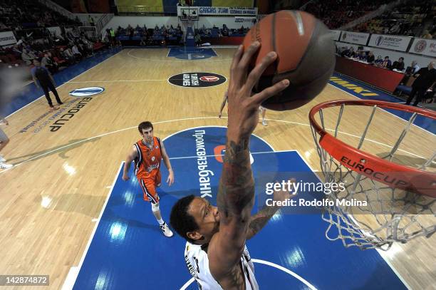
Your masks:
<path fill-rule="evenodd" d="M 305 11 L 322 19 L 329 29 L 338 29 L 359 17 L 374 11 L 382 0 L 317 0 L 307 4 Z"/>

